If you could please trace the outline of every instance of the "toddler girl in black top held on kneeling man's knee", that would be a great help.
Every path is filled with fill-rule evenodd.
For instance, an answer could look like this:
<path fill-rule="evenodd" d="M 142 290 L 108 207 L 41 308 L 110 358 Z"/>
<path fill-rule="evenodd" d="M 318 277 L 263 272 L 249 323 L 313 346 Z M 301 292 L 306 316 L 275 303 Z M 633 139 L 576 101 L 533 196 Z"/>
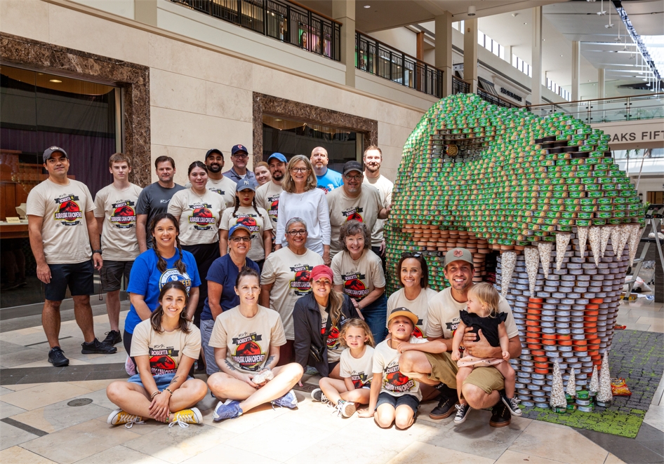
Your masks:
<path fill-rule="evenodd" d="M 507 313 L 498 313 L 498 300 L 500 295 L 493 288 L 493 285 L 482 282 L 475 284 L 468 290 L 467 311 L 461 311 L 461 322 L 454 332 L 452 339 L 452 360 L 457 361 L 459 370 L 456 374 L 456 384 L 463 385 L 465 378 L 472 372 L 474 367 L 488 367 L 493 366 L 505 378 L 505 390 L 500 392 L 500 399 L 510 408 L 510 412 L 515 416 L 521 416 L 522 412 L 519 409 L 517 400 L 514 399 L 514 369 L 510 366 L 510 352 L 508 346 L 510 339 L 507 337 L 505 330 L 505 319 Z M 459 346 L 463 340 L 463 334 L 466 327 L 472 327 L 472 331 L 477 334 L 482 330 L 482 334 L 489 341 L 491 346 L 500 346 L 503 350 L 503 359 L 499 358 L 482 358 L 474 356 L 461 357 Z M 470 406 L 466 400 L 461 397 L 461 388 L 458 388 L 459 404 L 456 405 L 455 423 L 462 423 L 465 421 Z"/>

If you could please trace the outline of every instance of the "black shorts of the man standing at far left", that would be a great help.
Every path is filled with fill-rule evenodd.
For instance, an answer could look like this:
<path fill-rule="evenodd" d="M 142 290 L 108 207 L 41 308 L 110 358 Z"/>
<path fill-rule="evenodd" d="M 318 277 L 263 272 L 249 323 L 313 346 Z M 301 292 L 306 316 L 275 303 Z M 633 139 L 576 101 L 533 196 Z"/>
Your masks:
<path fill-rule="evenodd" d="M 72 296 L 91 295 L 95 292 L 92 261 L 76 264 L 49 264 L 51 282 L 46 284 L 44 296 L 47 300 L 62 301 L 67 294 L 67 287 Z"/>

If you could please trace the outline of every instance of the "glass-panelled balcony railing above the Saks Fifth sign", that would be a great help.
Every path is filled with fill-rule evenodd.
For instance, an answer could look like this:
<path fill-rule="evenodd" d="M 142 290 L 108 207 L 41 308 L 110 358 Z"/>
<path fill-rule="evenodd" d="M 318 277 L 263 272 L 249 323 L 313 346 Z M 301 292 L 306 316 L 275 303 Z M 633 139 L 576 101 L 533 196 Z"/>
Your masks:
<path fill-rule="evenodd" d="M 620 121 L 639 121 L 642 119 L 664 118 L 664 93 L 650 93 L 634 97 L 602 98 L 538 104 L 526 107 L 538 116 L 564 113 L 578 118 L 585 123 L 611 123 Z"/>

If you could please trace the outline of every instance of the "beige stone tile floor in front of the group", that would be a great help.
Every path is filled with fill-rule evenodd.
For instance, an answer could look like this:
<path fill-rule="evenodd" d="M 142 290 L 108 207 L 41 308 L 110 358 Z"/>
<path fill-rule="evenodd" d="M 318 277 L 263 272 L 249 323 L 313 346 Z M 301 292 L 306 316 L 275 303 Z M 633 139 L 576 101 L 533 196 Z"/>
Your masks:
<path fill-rule="evenodd" d="M 126 311 L 121 318 L 125 315 Z M 629 329 L 664 332 L 664 309 L 660 303 L 645 299 L 623 303 L 618 322 Z M 108 329 L 105 315 L 95 316 L 98 336 Z M 62 324 L 61 338 L 72 365 L 124 362 L 121 346 L 116 355 L 81 355 L 81 332 L 74 321 Z M 1 333 L 3 375 L 17 368 L 49 367 L 45 341 L 41 327 Z M 528 418 L 513 418 L 509 427 L 491 428 L 489 411 L 471 411 L 467 421 L 458 426 L 452 418 L 432 421 L 428 413 L 435 404 L 431 402 L 423 404 L 409 430 L 381 430 L 371 419 L 333 416 L 332 409 L 312 402 L 303 392 L 297 392 L 300 405 L 295 411 L 265 406 L 221 423 L 212 421 L 215 400 L 208 395 L 198 404 L 204 415 L 202 425 L 168 428 L 148 421 L 128 430 L 106 424 L 114 409 L 105 395 L 111 381 L 1 385 L 0 463 L 664 462 L 664 442 L 659 443 L 664 432 L 664 381 L 637 440 L 619 442 L 619 446 L 615 435 L 594 432 L 599 438 L 587 437 L 583 431 Z M 304 381 L 316 383 L 316 378 Z M 77 398 L 92 402 L 79 407 L 67 405 Z M 635 449 L 639 440 L 646 452 L 625 452 Z"/>

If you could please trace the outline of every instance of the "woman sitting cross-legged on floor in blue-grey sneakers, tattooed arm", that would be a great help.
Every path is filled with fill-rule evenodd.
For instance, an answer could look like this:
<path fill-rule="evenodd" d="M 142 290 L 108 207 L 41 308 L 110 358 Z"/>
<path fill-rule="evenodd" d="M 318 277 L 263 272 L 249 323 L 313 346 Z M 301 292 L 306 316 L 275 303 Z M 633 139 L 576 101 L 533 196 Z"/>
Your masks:
<path fill-rule="evenodd" d="M 217 316 L 210 337 L 221 372 L 208 378 L 208 386 L 215 397 L 227 399 L 217 404 L 213 419 L 236 418 L 270 402 L 296 408 L 298 400 L 291 389 L 303 369 L 297 363 L 276 367 L 286 336 L 279 313 L 258 306 L 258 273 L 249 268 L 240 271 L 235 292 L 239 306 Z"/>

